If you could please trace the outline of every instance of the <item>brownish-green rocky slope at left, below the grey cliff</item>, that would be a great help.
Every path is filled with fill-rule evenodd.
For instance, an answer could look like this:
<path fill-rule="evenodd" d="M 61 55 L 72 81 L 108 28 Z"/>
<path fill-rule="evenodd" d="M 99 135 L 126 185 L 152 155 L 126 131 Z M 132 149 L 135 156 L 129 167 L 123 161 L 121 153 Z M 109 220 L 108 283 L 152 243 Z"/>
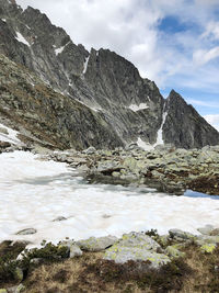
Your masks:
<path fill-rule="evenodd" d="M 14 126 L 27 145 L 78 149 L 122 145 L 99 113 L 55 92 L 4 55 L 0 55 L 0 122 Z"/>

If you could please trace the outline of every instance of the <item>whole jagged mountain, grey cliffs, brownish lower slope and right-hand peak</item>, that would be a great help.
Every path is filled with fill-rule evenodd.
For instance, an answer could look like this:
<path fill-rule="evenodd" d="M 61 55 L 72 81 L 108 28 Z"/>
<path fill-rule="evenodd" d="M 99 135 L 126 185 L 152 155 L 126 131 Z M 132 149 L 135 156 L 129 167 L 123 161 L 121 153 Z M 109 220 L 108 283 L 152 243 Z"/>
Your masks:
<path fill-rule="evenodd" d="M 43 122 L 37 137 L 47 129 L 44 140 L 49 144 L 51 137 L 53 145 L 64 148 L 114 148 L 135 142 L 184 148 L 219 144 L 219 133 L 180 94 L 171 91 L 163 99 L 155 83 L 141 78 L 131 63 L 108 49 L 88 52 L 73 44 L 39 10 L 28 7 L 23 11 L 15 1 L 0 0 L 0 54 L 3 63 L 13 65 L 23 84 L 18 83 L 19 97 L 10 92 L 10 99 L 1 99 L 0 106 L 9 112 L 12 123 L 18 109 L 10 100 L 21 103 L 20 122 L 25 115 L 31 116 L 25 119 L 26 125 Z M 5 68 L 0 68 L 1 75 Z M 32 88 L 28 75 L 35 76 L 41 89 Z M 42 88 L 46 89 L 45 99 Z M 26 94 L 39 94 L 42 100 L 37 104 Z M 62 101 L 66 108 L 59 111 Z"/>

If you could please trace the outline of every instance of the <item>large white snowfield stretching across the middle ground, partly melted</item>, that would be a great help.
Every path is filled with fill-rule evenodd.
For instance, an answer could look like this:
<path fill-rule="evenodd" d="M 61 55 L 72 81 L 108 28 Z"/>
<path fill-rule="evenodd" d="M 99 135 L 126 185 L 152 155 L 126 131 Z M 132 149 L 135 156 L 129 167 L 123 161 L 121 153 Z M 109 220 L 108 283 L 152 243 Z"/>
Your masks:
<path fill-rule="evenodd" d="M 25 239 L 39 245 L 65 237 L 115 235 L 170 228 L 197 233 L 219 226 L 219 196 L 174 196 L 147 188 L 88 184 L 67 165 L 37 160 L 31 153 L 0 155 L 0 241 Z M 67 219 L 53 222 L 58 216 Z M 37 233 L 15 235 L 24 228 Z"/>

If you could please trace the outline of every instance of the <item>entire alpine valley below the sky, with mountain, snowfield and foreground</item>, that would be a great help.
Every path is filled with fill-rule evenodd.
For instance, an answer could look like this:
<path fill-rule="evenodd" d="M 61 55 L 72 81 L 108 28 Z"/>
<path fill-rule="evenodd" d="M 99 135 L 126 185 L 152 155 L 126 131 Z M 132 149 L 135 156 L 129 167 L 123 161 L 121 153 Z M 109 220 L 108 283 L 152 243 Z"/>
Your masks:
<path fill-rule="evenodd" d="M 219 292 L 218 166 L 181 94 L 0 0 L 0 293 Z"/>

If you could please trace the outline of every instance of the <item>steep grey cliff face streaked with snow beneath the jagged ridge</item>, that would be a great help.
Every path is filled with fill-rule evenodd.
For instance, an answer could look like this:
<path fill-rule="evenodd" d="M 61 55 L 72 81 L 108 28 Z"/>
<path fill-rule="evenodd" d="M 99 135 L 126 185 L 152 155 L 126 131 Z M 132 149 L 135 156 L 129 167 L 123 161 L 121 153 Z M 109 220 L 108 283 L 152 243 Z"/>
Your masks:
<path fill-rule="evenodd" d="M 53 25 L 36 9 L 28 7 L 23 11 L 11 1 L 0 0 L 0 53 L 35 72 L 69 103 L 78 101 L 81 109 L 97 116 L 110 134 L 111 147 L 139 138 L 152 145 L 163 139 L 186 148 L 219 144 L 218 132 L 191 106 L 183 104 L 185 116 L 177 124 L 174 99 L 165 101 L 155 83 L 142 79 L 132 64 L 107 49 L 88 52 L 82 45 L 73 44 L 62 29 Z M 70 115 L 65 111 L 61 115 L 71 125 Z M 90 119 L 84 115 L 76 123 L 89 125 Z M 181 134 L 180 123 L 189 125 L 188 137 Z M 80 132 L 84 140 L 81 146 L 103 147 L 99 139 L 91 142 L 84 129 Z M 97 134 L 93 132 L 95 137 Z"/>

